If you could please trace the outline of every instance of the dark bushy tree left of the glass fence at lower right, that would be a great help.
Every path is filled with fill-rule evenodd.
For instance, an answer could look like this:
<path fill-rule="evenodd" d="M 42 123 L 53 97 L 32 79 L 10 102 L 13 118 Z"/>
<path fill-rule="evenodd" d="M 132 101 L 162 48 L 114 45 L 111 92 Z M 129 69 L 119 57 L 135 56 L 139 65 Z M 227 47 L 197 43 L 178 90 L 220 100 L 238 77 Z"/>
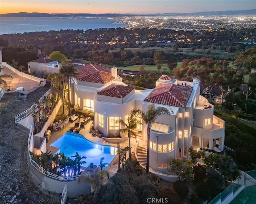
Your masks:
<path fill-rule="evenodd" d="M 215 168 L 220 175 L 224 177 L 226 185 L 228 184 L 228 181 L 236 180 L 236 178 L 240 176 L 238 166 L 234 162 L 233 158 L 228 156 L 226 153 L 210 154 L 204 159 L 204 162 L 206 165 Z"/>

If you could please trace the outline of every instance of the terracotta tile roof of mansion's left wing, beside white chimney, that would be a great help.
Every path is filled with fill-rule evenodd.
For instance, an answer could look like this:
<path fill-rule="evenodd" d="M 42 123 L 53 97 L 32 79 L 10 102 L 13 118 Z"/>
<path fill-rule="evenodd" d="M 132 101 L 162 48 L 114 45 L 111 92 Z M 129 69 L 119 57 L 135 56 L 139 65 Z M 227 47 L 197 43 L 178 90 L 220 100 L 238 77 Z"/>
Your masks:
<path fill-rule="evenodd" d="M 108 83 L 115 79 L 111 75 L 111 69 L 99 65 L 87 64 L 77 69 L 80 74 L 78 80 L 94 83 Z"/>

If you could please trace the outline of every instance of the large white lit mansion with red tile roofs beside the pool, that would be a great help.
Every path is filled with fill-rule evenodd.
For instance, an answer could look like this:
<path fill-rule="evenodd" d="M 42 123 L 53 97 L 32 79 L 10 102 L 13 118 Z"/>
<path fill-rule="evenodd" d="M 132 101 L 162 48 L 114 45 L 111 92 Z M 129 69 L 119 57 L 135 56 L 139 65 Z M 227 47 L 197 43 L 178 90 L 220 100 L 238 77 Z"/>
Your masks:
<path fill-rule="evenodd" d="M 94 128 L 104 135 L 116 134 L 118 119 L 127 120 L 130 110 L 146 110 L 148 104 L 166 107 L 170 115 L 158 117 L 150 133 L 150 167 L 166 172 L 170 157 L 186 160 L 188 148 L 224 149 L 224 121 L 213 115 L 213 105 L 200 95 L 200 82 L 178 81 L 163 75 L 156 88 L 135 90 L 112 69 L 88 64 L 78 69 L 72 83 L 72 103 L 94 112 Z M 138 125 L 147 141 L 146 125 Z M 125 135 L 121 135 L 125 137 Z"/>

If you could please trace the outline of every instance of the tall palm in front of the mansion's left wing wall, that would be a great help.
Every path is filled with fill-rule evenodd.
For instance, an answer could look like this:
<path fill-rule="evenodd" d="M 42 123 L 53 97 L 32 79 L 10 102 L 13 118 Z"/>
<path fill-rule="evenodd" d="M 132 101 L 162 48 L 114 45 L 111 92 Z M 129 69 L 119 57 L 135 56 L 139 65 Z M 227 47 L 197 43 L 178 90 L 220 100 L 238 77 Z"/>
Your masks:
<path fill-rule="evenodd" d="M 67 63 L 62 64 L 59 73 L 64 75 L 68 80 L 68 115 L 70 115 L 70 79 L 77 78 L 79 73 L 77 72 L 74 64 Z"/>

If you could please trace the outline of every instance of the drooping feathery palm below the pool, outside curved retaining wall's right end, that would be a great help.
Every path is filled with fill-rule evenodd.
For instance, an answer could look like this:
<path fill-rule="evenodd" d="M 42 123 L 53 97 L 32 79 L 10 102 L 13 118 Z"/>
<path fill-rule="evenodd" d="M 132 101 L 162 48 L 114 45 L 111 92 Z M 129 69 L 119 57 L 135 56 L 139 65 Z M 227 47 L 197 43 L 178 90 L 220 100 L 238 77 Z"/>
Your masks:
<path fill-rule="evenodd" d="M 109 179 L 109 173 L 107 170 L 99 170 L 93 176 L 87 175 L 84 172 L 78 177 L 78 184 L 85 182 L 90 184 L 94 190 L 94 196 L 98 193 L 101 186 L 106 184 Z"/>

